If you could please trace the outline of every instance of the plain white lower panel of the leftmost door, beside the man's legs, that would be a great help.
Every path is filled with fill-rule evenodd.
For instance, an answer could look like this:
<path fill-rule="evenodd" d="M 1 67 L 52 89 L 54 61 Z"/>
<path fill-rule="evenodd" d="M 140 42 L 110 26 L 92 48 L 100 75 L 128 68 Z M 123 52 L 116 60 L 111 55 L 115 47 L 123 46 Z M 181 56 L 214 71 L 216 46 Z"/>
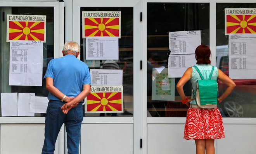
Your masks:
<path fill-rule="evenodd" d="M 1 154 L 40 154 L 44 140 L 44 124 L 1 124 Z M 59 153 L 59 137 L 54 154 Z"/>

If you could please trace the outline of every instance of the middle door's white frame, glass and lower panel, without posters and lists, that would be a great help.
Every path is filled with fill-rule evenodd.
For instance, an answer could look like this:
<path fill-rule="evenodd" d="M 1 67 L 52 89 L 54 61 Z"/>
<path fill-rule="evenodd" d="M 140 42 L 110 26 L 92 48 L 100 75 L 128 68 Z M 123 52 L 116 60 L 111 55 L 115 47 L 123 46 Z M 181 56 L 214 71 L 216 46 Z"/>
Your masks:
<path fill-rule="evenodd" d="M 81 154 L 103 153 L 103 151 L 111 153 L 109 148 L 113 147 L 113 143 L 119 146 L 113 149 L 112 153 L 118 153 L 118 149 L 120 148 L 126 149 L 120 153 L 140 153 L 140 139 L 142 138 L 142 71 L 140 69 L 140 61 L 142 60 L 141 1 L 73 0 L 73 25 L 71 26 L 69 24 L 69 27 L 73 27 L 73 41 L 81 44 L 81 54 L 79 58 L 86 63 L 85 39 L 81 38 L 81 30 L 83 30 L 83 26 L 81 26 L 82 11 L 121 11 L 121 38 L 119 39 L 119 59 L 117 63 L 121 69 L 123 68 L 120 62 L 126 62 L 128 65 L 123 69 L 124 113 L 114 115 L 112 113 L 86 113 L 81 130 Z M 71 38 L 71 36 L 69 36 L 69 38 Z M 100 61 L 100 66 L 102 66 L 103 63 L 104 61 Z M 102 68 L 90 68 L 89 66 L 89 69 Z M 129 83 L 129 81 L 131 82 Z M 118 117 L 112 117 L 116 115 Z M 104 130 L 106 133 L 100 130 Z M 109 134 L 107 132 L 109 132 Z M 115 132 L 118 135 L 116 135 Z M 93 135 L 97 137 L 94 139 Z M 112 137 L 112 135 L 118 137 L 118 139 Z M 102 149 L 100 149 L 101 145 L 98 143 L 104 144 Z"/>

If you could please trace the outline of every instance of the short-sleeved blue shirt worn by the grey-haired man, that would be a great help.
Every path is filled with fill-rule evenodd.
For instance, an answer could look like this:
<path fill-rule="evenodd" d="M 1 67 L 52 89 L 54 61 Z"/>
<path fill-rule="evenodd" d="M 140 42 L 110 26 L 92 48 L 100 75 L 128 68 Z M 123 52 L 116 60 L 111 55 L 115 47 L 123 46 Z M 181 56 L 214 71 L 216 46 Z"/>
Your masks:
<path fill-rule="evenodd" d="M 43 78 L 47 77 L 53 78 L 54 86 L 69 97 L 81 93 L 83 85 L 92 85 L 88 66 L 72 54 L 52 59 Z M 48 100 L 60 99 L 49 92 Z"/>

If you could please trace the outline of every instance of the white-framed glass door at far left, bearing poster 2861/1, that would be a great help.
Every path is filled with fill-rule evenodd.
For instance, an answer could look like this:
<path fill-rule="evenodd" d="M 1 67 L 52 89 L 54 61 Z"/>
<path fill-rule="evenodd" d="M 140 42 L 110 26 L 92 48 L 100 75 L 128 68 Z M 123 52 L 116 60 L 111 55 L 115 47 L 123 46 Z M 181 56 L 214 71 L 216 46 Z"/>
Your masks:
<path fill-rule="evenodd" d="M 1 96 L 2 94 L 15 95 L 16 106 L 12 104 L 15 102 L 14 98 L 9 98 L 9 103 L 12 104 L 9 104 L 9 106 L 17 107 L 16 112 L 10 114 L 9 108 L 4 105 L 1 99 L 0 153 L 21 153 L 22 151 L 26 154 L 35 154 L 41 153 L 42 151 L 45 113 L 29 114 L 29 106 L 18 108 L 18 106 L 22 106 L 22 101 L 17 102 L 17 96 L 24 96 L 29 93 L 33 93 L 34 96 L 43 97 L 48 95 L 43 76 L 47 69 L 48 62 L 50 59 L 59 57 L 59 49 L 62 48 L 64 44 L 63 13 L 63 2 L 58 1 L 49 1 L 47 3 L 37 0 L 0 1 L 0 93 Z M 38 20 L 36 19 L 37 17 Z M 45 26 L 43 26 L 44 24 Z M 36 78 L 36 80 L 42 82 L 41 86 L 26 85 L 26 82 L 24 82 L 24 85 L 10 84 L 10 73 L 16 71 L 16 74 L 12 74 L 12 76 L 22 73 L 31 73 L 29 72 L 31 68 L 26 66 L 28 64 L 21 64 L 20 66 L 22 67 L 17 67 L 19 72 L 17 72 L 15 67 L 11 69 L 11 66 L 19 64 L 10 65 L 10 61 L 17 60 L 19 62 L 25 62 L 31 61 L 33 58 L 28 56 L 31 55 L 31 53 L 26 53 L 25 50 L 11 52 L 9 40 L 42 41 L 42 50 L 38 51 L 42 54 L 42 59 L 35 54 L 35 57 L 40 57 L 41 65 L 33 69 L 34 72 L 36 71 L 42 74 L 42 76 Z M 13 59 L 10 60 L 10 56 L 12 56 Z M 35 77 L 31 75 L 31 78 Z M 29 103 L 30 100 L 24 100 L 24 104 L 29 105 Z M 63 129 L 60 134 L 60 136 L 64 136 Z M 28 147 L 28 145 L 33 146 Z M 62 151 L 64 152 L 64 141 L 58 138 L 55 154 L 61 153 Z"/>

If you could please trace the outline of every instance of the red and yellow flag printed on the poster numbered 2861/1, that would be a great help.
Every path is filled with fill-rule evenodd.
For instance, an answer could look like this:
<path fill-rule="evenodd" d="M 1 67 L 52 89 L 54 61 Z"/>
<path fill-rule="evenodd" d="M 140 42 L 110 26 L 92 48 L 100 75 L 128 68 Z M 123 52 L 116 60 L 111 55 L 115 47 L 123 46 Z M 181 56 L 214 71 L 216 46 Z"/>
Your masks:
<path fill-rule="evenodd" d="M 9 21 L 9 40 L 45 41 L 45 23 Z"/>

